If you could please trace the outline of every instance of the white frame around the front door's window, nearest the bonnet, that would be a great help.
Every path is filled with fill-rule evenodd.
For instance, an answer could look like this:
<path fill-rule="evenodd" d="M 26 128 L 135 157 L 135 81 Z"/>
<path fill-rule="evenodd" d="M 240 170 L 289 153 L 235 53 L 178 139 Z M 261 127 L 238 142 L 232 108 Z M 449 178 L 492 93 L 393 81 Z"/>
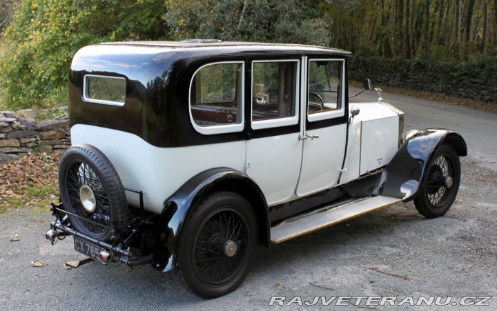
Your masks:
<path fill-rule="evenodd" d="M 310 74 L 311 74 L 311 66 L 310 63 L 311 61 L 341 61 L 342 62 L 342 74 L 340 77 L 340 88 L 341 90 L 341 98 L 340 98 L 340 109 L 336 110 L 328 110 L 328 111 L 323 111 L 323 112 L 315 112 L 310 114 L 309 113 L 309 79 L 310 79 Z M 345 81 L 345 59 L 318 59 L 318 58 L 309 58 L 307 59 L 306 63 L 306 69 L 307 69 L 307 79 L 306 79 L 306 94 L 305 94 L 305 106 L 306 106 L 306 114 L 307 114 L 307 121 L 309 122 L 316 122 L 316 121 L 322 121 L 322 120 L 327 120 L 327 119 L 333 119 L 337 117 L 343 117 L 345 115 L 345 98 L 344 98 L 344 92 L 345 92 L 345 86 L 344 86 L 344 81 Z"/>

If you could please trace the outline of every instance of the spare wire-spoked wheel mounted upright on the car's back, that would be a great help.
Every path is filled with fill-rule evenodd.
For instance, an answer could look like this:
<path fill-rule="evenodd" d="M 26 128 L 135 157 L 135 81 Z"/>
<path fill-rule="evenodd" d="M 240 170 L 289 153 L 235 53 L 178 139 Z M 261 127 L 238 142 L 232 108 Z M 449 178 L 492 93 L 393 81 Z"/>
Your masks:
<path fill-rule="evenodd" d="M 68 148 L 59 163 L 59 190 L 69 221 L 78 232 L 109 241 L 128 225 L 128 203 L 114 166 L 90 145 Z"/>

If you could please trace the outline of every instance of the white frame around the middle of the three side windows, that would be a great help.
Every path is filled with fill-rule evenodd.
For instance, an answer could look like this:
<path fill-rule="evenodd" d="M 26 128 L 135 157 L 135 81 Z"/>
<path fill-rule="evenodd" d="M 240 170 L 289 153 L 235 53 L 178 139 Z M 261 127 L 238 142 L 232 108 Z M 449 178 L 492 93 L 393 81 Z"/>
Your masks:
<path fill-rule="evenodd" d="M 251 128 L 253 130 L 262 130 L 266 128 L 278 128 L 282 126 L 293 126 L 298 124 L 300 120 L 300 110 L 299 110 L 299 101 L 300 101 L 300 59 L 257 59 L 251 62 L 251 94 L 253 94 L 254 90 L 254 71 L 253 66 L 254 63 L 295 63 L 295 115 L 292 117 L 282 117 L 268 120 L 254 120 L 253 119 L 253 101 L 251 100 Z"/>

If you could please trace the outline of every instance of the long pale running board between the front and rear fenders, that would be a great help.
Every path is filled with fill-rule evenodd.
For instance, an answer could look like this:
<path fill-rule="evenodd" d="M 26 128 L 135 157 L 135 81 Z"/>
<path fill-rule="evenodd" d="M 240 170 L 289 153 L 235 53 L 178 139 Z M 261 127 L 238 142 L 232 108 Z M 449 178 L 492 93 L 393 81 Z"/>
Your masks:
<path fill-rule="evenodd" d="M 377 197 L 346 203 L 337 208 L 330 209 L 329 206 L 321 208 L 311 214 L 271 228 L 271 242 L 281 243 L 295 237 L 300 237 L 301 235 L 314 230 L 327 227 L 328 225 L 340 223 L 340 221 L 345 221 L 401 201 L 401 199 L 379 195 Z"/>

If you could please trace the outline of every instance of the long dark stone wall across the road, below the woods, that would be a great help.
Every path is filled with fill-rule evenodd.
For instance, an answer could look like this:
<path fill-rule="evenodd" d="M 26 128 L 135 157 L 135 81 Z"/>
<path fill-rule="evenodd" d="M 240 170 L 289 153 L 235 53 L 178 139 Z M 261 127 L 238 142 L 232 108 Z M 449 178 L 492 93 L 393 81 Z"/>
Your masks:
<path fill-rule="evenodd" d="M 350 79 L 371 79 L 373 85 L 442 93 L 497 103 L 496 66 L 485 63 L 436 63 L 413 59 L 353 57 Z"/>

